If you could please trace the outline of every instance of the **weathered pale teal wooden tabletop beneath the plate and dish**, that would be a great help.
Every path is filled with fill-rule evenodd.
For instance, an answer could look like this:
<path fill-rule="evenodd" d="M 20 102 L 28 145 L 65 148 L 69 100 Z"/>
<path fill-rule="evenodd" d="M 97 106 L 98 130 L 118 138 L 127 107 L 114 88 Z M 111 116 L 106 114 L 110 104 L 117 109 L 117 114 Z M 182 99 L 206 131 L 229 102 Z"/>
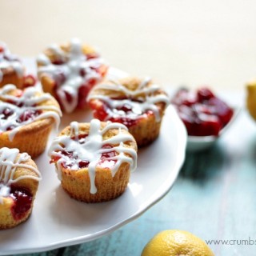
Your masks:
<path fill-rule="evenodd" d="M 186 154 L 173 189 L 134 222 L 92 242 L 22 255 L 140 255 L 154 234 L 168 229 L 218 240 L 210 245 L 215 255 L 256 255 L 255 166 L 256 123 L 242 110 L 210 150 Z"/>

